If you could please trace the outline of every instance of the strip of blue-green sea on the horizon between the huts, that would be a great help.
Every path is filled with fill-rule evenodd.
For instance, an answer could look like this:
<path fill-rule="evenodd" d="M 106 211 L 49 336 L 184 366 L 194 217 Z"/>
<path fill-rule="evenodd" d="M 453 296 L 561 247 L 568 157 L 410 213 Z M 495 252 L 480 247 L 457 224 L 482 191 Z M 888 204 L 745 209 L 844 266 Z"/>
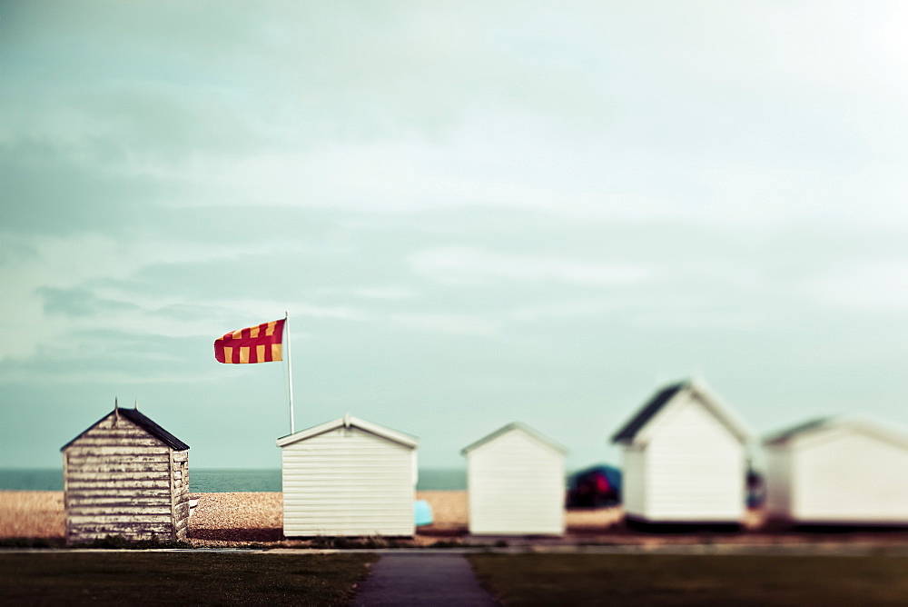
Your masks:
<path fill-rule="evenodd" d="M 467 489 L 467 471 L 460 468 L 419 470 L 418 491 Z M 190 468 L 192 493 L 281 491 L 280 468 Z M 63 491 L 62 468 L 0 468 L 0 491 Z"/>

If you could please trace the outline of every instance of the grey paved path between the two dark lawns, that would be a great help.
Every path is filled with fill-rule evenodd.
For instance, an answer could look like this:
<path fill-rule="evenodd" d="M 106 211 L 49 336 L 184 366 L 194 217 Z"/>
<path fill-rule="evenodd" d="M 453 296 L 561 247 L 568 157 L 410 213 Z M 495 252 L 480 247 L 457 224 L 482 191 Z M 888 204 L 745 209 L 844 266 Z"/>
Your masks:
<path fill-rule="evenodd" d="M 479 585 L 463 554 L 385 553 L 360 584 L 353 604 L 491 607 L 498 603 Z"/>

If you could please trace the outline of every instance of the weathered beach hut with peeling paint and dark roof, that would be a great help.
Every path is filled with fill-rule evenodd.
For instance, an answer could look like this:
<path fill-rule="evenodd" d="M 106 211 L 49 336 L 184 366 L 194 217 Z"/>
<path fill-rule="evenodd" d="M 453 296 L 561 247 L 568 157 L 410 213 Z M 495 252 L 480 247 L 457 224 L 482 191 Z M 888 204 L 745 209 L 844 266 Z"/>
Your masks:
<path fill-rule="evenodd" d="M 189 445 L 138 409 L 114 406 L 61 451 L 67 543 L 185 539 Z"/>

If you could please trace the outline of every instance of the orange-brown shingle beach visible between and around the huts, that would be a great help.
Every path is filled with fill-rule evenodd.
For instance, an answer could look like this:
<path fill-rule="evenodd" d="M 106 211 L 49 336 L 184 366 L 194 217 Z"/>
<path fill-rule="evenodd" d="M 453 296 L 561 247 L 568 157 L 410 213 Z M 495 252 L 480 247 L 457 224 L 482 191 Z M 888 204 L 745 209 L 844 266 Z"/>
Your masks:
<path fill-rule="evenodd" d="M 419 527 L 417 545 L 435 542 L 468 541 L 467 492 L 426 491 L 417 498 L 432 506 L 433 524 Z M 273 546 L 300 546 L 308 542 L 283 540 L 281 493 L 193 493 L 198 505 L 189 525 L 189 539 L 198 546 L 232 546 L 263 543 Z M 836 533 L 763 532 L 763 516 L 750 512 L 743 532 L 656 533 L 628 530 L 620 508 L 568 510 L 566 538 L 534 542 L 574 543 L 791 543 L 791 542 L 879 542 L 908 545 L 908 530 L 892 532 L 851 531 Z M 0 538 L 56 538 L 64 536 L 63 492 L 0 492 Z M 508 540 L 514 542 L 514 540 Z"/>

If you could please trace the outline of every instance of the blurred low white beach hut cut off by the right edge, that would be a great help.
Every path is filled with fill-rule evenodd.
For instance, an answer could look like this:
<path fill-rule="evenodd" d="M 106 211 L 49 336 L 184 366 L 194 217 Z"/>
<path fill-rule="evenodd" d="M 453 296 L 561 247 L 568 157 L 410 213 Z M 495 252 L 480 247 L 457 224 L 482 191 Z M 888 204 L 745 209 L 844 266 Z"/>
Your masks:
<path fill-rule="evenodd" d="M 766 509 L 793 524 L 908 524 L 908 431 L 831 417 L 764 441 Z"/>

